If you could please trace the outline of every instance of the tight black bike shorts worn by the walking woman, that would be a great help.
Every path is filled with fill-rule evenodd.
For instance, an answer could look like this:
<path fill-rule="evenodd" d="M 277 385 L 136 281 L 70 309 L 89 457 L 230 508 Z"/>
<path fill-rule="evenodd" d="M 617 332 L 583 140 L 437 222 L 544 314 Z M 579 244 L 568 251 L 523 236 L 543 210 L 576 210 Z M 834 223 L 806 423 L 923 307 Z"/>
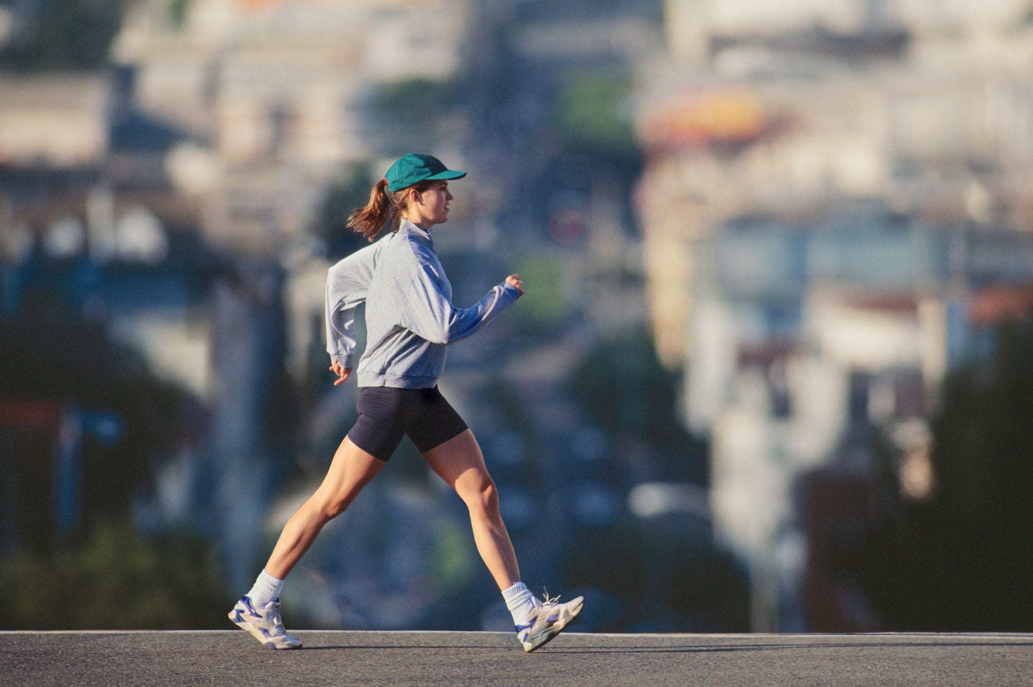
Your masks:
<path fill-rule="evenodd" d="M 426 454 L 466 431 L 438 387 L 397 388 L 364 386 L 355 402 L 358 419 L 348 438 L 367 454 L 386 461 L 408 434 L 419 452 Z"/>

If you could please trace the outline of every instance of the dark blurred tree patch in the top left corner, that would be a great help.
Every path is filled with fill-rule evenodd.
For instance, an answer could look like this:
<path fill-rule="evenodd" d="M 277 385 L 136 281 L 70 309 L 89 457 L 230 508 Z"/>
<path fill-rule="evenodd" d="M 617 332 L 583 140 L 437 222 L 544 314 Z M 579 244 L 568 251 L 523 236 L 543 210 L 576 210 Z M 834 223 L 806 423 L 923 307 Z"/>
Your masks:
<path fill-rule="evenodd" d="M 4 5 L 11 4 L 4 2 Z M 0 50 L 0 68 L 88 71 L 103 66 L 122 21 L 118 0 L 55 0 L 35 7 L 25 28 Z"/>

